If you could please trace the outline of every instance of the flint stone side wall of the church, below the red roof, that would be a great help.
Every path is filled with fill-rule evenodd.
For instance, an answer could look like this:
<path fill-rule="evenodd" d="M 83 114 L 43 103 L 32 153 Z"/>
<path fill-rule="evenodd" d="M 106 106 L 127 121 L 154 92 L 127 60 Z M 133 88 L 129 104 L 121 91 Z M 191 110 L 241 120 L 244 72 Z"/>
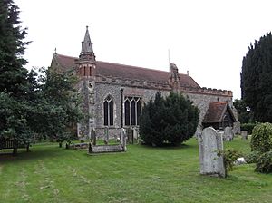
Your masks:
<path fill-rule="evenodd" d="M 142 102 L 149 102 L 151 98 L 155 98 L 156 92 L 160 91 L 162 96 L 167 96 L 170 93 L 170 87 L 167 85 L 161 86 L 153 84 L 152 86 L 141 85 L 141 82 L 128 82 L 113 79 L 97 78 L 94 89 L 94 123 L 98 138 L 104 137 L 103 126 L 103 102 L 108 95 L 113 98 L 113 126 L 109 128 L 111 137 L 117 138 L 121 131 L 121 88 L 123 89 L 123 98 L 126 96 L 141 97 Z M 210 102 L 225 102 L 228 101 L 232 106 L 232 92 L 221 91 L 210 88 L 187 88 L 181 87 L 180 91 L 189 97 L 194 105 L 198 106 L 199 127 L 201 130 L 201 122 L 204 119 L 206 111 L 208 111 Z M 123 106 L 124 110 L 124 106 Z M 124 118 L 124 111 L 123 111 Z M 124 123 L 123 123 L 124 124 Z M 126 128 L 126 126 L 124 126 Z"/>

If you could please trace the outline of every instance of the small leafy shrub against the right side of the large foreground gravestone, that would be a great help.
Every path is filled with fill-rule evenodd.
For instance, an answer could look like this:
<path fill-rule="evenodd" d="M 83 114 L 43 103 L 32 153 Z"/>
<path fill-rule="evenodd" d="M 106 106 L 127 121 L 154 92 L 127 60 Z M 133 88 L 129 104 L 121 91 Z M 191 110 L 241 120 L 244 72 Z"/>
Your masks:
<path fill-rule="evenodd" d="M 224 166 L 227 171 L 232 170 L 234 166 L 234 161 L 237 160 L 239 157 L 242 157 L 243 154 L 239 150 L 219 150 L 218 156 L 223 156 Z M 226 171 L 226 172 L 227 172 Z"/>

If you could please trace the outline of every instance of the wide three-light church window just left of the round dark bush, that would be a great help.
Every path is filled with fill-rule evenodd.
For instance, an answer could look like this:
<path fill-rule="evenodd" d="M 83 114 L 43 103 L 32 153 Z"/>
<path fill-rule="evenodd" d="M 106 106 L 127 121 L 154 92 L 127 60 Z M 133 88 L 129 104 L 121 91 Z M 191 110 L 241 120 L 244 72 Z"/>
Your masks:
<path fill-rule="evenodd" d="M 139 125 L 141 115 L 141 98 L 125 97 L 125 125 Z"/>

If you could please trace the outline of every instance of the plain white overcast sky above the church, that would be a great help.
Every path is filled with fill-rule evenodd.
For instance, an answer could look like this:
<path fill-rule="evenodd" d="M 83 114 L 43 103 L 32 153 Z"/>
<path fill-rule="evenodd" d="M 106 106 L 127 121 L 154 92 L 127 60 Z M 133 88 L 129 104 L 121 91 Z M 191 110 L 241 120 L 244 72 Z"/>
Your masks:
<path fill-rule="evenodd" d="M 96 59 L 168 71 L 240 98 L 248 46 L 272 30 L 270 0 L 15 0 L 28 27 L 27 67 L 78 56 L 89 25 Z"/>

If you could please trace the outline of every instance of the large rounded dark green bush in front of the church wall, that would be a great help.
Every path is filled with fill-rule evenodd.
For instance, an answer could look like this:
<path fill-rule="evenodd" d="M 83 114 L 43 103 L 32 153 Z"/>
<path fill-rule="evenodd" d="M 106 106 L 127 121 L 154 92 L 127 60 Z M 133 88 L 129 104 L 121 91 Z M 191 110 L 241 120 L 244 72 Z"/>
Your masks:
<path fill-rule="evenodd" d="M 198 122 L 199 110 L 188 99 L 174 92 L 164 99 L 157 92 L 142 110 L 141 139 L 148 145 L 177 145 L 193 136 Z"/>

